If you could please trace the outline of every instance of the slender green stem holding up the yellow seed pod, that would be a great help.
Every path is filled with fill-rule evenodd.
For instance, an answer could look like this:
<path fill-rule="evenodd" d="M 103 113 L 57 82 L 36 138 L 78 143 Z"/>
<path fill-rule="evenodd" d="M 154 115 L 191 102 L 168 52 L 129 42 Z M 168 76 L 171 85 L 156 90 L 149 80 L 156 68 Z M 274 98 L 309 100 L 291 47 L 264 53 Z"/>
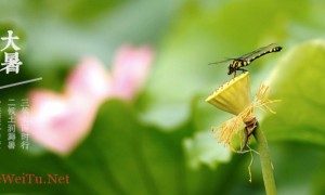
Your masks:
<path fill-rule="evenodd" d="M 268 195 L 276 194 L 275 180 L 273 177 L 273 166 L 270 159 L 268 141 L 260 126 L 255 129 L 253 136 L 258 143 L 262 174 L 264 180 L 265 192 Z"/>

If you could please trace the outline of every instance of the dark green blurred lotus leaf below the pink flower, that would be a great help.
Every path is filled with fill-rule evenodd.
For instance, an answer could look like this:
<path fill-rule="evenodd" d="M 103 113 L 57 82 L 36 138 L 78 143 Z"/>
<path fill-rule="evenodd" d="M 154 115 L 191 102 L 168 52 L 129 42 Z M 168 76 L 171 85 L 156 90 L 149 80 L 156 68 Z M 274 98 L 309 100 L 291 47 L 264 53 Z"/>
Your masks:
<path fill-rule="evenodd" d="M 121 122 L 121 119 L 123 122 Z M 4 154 L 1 173 L 69 174 L 69 184 L 3 184 L 2 192 L 73 194 L 197 194 L 211 193 L 218 177 L 211 169 L 193 171 L 185 165 L 182 139 L 140 123 L 134 110 L 118 101 L 105 103 L 89 138 L 67 157 Z M 11 152 L 13 153 L 13 152 Z M 24 154 L 25 153 L 25 154 Z M 17 166 L 13 161 L 24 159 Z M 13 166 L 15 165 L 15 166 Z M 50 187 L 49 187 L 50 186 Z M 37 188 L 37 190 L 36 190 Z"/>

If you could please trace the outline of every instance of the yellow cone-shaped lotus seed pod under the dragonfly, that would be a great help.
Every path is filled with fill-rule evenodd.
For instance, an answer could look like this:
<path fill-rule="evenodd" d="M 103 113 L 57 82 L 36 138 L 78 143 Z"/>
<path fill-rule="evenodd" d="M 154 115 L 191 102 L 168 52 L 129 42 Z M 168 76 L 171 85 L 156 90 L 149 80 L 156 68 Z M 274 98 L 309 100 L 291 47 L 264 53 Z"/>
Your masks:
<path fill-rule="evenodd" d="M 248 72 L 222 84 L 206 99 L 206 102 L 224 112 L 240 114 L 251 102 Z"/>

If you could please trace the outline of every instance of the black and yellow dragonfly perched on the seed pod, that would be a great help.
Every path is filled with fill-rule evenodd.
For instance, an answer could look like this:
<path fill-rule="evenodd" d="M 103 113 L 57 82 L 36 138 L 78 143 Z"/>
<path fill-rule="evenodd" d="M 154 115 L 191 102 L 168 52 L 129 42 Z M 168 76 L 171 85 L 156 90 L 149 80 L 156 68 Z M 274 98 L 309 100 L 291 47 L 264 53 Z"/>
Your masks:
<path fill-rule="evenodd" d="M 246 53 L 239 57 L 234 57 L 234 58 L 227 57 L 224 61 L 210 63 L 209 65 L 223 64 L 223 63 L 230 62 L 227 75 L 232 75 L 234 73 L 234 77 L 236 77 L 237 70 L 242 70 L 243 73 L 247 72 L 243 67 L 248 66 L 255 60 L 257 60 L 263 55 L 266 55 L 269 53 L 280 52 L 281 50 L 282 50 L 282 47 L 278 47 L 276 44 L 272 43 L 272 44 L 259 48 L 252 52 Z"/>

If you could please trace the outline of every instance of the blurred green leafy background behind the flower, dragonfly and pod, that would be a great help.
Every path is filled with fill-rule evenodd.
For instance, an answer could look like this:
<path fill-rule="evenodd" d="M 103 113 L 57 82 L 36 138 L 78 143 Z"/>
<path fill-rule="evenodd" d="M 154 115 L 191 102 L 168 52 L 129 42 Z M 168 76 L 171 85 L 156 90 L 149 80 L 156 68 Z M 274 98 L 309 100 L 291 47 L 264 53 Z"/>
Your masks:
<path fill-rule="evenodd" d="M 93 55 L 110 67 L 123 43 L 151 44 L 156 57 L 135 103 L 103 104 L 70 155 L 37 143 L 28 152 L 2 146 L 0 173 L 69 174 L 68 185 L 0 183 L 0 192 L 264 194 L 258 155 L 249 183 L 250 155 L 231 154 L 212 136 L 211 127 L 231 116 L 205 99 L 231 76 L 226 65 L 207 64 L 276 42 L 282 52 L 247 69 L 253 93 L 268 82 L 271 99 L 282 100 L 276 115 L 259 114 L 277 191 L 325 194 L 324 9 L 321 0 L 1 0 L 1 37 L 9 28 L 21 37 L 24 66 L 20 75 L 2 73 L 0 84 L 43 78 L 1 90 L 1 101 L 36 87 L 61 91 L 80 58 Z"/>

